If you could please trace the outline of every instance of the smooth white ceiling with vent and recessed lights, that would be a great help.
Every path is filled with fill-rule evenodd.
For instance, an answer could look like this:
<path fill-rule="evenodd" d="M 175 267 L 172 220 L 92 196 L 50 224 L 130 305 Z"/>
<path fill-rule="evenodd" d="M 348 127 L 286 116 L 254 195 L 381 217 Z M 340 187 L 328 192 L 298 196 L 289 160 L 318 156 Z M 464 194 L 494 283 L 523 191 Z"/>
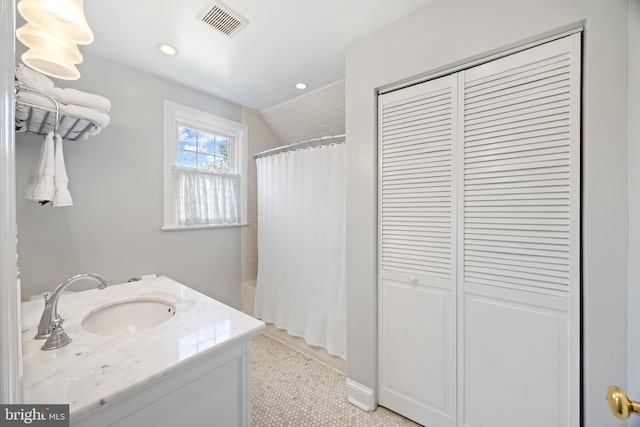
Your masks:
<path fill-rule="evenodd" d="M 222 1 L 249 20 L 232 38 L 196 19 L 208 0 L 85 0 L 95 41 L 81 50 L 263 110 L 300 96 L 298 81 L 343 79 L 350 41 L 430 0 Z"/>

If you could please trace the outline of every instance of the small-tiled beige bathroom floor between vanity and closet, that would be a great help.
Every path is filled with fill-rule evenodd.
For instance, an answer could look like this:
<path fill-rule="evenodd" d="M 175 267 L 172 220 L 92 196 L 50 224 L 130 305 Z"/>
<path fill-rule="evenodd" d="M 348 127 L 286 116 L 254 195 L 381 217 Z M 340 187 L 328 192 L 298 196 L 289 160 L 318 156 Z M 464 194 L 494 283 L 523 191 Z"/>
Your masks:
<path fill-rule="evenodd" d="M 418 426 L 382 407 L 351 405 L 343 374 L 277 340 L 259 334 L 252 349 L 254 427 Z"/>

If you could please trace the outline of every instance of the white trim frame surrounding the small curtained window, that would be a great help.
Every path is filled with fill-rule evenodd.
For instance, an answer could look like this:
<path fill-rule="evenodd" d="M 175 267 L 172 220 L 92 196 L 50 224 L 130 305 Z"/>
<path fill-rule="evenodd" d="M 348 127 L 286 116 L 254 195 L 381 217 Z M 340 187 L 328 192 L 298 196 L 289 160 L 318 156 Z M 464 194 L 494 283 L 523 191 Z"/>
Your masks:
<path fill-rule="evenodd" d="M 240 175 L 240 222 L 234 224 L 179 225 L 176 219 L 175 194 L 173 190 L 173 166 L 178 150 L 178 127 L 187 126 L 218 135 L 233 137 L 235 143 L 235 163 Z M 248 128 L 245 124 L 225 119 L 177 102 L 164 100 L 164 210 L 163 231 L 198 230 L 247 225 L 247 162 Z"/>

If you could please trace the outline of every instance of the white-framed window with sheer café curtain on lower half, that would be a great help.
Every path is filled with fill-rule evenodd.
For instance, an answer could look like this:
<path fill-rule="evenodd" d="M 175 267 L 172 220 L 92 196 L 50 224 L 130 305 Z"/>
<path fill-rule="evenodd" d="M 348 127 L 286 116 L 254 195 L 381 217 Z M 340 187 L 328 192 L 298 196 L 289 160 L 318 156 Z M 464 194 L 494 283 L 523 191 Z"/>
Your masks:
<path fill-rule="evenodd" d="M 247 222 L 247 127 L 164 102 L 163 230 Z"/>

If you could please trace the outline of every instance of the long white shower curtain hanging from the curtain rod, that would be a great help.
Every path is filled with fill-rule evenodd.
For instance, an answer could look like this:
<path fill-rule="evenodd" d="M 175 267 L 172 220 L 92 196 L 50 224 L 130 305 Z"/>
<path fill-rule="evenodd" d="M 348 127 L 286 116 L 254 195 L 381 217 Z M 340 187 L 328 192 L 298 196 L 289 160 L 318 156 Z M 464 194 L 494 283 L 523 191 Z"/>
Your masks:
<path fill-rule="evenodd" d="M 257 159 L 254 315 L 346 358 L 346 144 Z"/>

